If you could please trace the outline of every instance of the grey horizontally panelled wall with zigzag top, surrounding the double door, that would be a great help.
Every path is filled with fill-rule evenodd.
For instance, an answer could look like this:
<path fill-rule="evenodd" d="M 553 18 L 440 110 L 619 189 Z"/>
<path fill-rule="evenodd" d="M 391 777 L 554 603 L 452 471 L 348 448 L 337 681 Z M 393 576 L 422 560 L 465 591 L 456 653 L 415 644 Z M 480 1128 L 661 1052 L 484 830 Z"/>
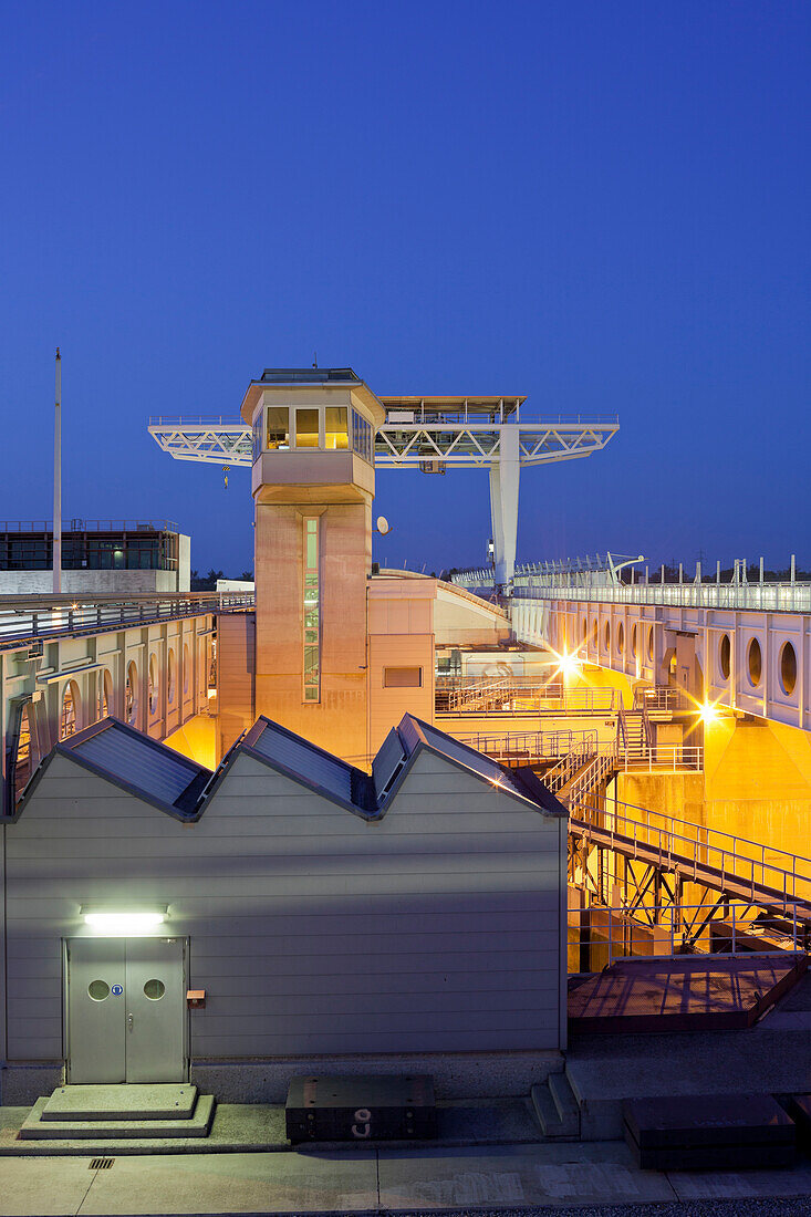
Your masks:
<path fill-rule="evenodd" d="M 565 819 L 432 755 L 376 824 L 241 755 L 191 826 L 56 757 L 4 831 L 10 1062 L 62 1056 L 60 938 L 102 901 L 190 936 L 197 1060 L 565 1043 Z"/>

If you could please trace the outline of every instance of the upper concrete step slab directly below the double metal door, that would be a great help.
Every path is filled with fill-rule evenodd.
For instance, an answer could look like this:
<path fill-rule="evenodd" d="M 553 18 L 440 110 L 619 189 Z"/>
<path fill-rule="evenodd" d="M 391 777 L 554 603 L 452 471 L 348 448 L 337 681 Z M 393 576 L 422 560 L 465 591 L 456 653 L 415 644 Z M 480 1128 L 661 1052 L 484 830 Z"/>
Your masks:
<path fill-rule="evenodd" d="M 141 1086 L 58 1086 L 43 1120 L 190 1120 L 197 1087 L 189 1083 Z"/>

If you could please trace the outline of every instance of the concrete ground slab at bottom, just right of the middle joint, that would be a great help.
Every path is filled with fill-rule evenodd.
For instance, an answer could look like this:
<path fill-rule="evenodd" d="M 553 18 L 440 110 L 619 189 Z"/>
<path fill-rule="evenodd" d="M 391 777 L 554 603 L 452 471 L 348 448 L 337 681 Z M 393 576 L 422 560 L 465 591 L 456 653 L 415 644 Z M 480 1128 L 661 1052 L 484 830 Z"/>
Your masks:
<path fill-rule="evenodd" d="M 544 1144 L 485 1151 L 379 1151 L 382 1208 L 672 1201 L 662 1174 L 638 1171 L 626 1145 Z"/>

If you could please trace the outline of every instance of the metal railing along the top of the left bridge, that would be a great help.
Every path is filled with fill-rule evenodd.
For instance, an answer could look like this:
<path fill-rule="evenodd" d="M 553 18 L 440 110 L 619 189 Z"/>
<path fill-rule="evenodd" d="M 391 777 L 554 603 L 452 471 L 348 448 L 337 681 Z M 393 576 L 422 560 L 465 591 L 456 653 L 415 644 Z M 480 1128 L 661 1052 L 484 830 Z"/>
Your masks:
<path fill-rule="evenodd" d="M 0 650 L 47 638 L 94 634 L 178 617 L 245 611 L 253 593 L 191 591 L 140 595 L 1 596 Z"/>

